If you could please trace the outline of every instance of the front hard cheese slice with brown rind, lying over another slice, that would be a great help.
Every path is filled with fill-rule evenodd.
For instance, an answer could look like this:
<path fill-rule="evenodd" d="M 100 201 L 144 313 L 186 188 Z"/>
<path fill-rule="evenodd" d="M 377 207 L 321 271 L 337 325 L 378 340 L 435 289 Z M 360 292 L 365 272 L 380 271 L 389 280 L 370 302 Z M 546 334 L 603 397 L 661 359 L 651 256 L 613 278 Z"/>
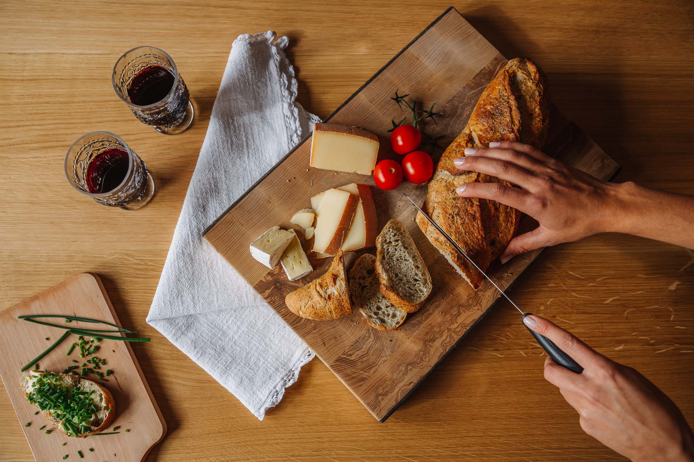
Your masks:
<path fill-rule="evenodd" d="M 339 189 L 325 191 L 316 211 L 313 251 L 335 255 L 349 231 L 359 197 Z"/>

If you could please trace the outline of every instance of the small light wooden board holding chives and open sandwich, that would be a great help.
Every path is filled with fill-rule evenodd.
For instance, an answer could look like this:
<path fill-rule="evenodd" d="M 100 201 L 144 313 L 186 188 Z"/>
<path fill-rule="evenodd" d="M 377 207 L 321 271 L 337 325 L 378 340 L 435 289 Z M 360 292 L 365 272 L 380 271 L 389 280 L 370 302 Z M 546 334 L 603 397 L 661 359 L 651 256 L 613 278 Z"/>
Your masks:
<path fill-rule="evenodd" d="M 94 353 L 94 356 L 106 359 L 107 363 L 101 366 L 101 371 L 113 371 L 112 375 L 106 377 L 108 383 L 105 387 L 111 391 L 116 402 L 116 417 L 112 425 L 120 427 L 120 434 L 71 438 L 62 434 L 58 427 L 49 423 L 41 414 L 35 416 L 37 409 L 26 401 L 24 393 L 19 389 L 19 375 L 22 374 L 19 370 L 22 366 L 58 340 L 63 331 L 17 319 L 22 314 L 69 314 L 120 326 L 99 276 L 80 274 L 0 313 L 0 377 L 37 461 L 60 461 L 65 454 L 68 455 L 68 461 L 80 460 L 77 451 L 81 451 L 85 460 L 90 461 L 143 461 L 149 450 L 164 438 L 167 424 L 130 344 L 127 341 L 103 339 L 99 342 L 100 350 Z M 45 318 L 40 321 L 64 323 L 60 318 Z M 96 328 L 93 323 L 76 321 L 71 322 L 70 326 Z M 62 372 L 67 366 L 84 362 L 87 358 L 79 357 L 77 348 L 71 355 L 65 355 L 69 344 L 76 340 L 75 335 L 70 335 L 53 348 L 40 359 L 40 370 Z M 150 344 L 142 346 L 147 348 Z M 72 359 L 76 359 L 79 364 L 72 362 Z M 98 380 L 94 375 L 87 378 Z M 26 423 L 31 425 L 25 427 Z M 41 430 L 42 425 L 46 425 L 46 428 Z M 49 429 L 52 430 L 51 433 L 45 434 Z M 130 431 L 126 433 L 126 429 Z M 67 444 L 63 446 L 62 443 Z M 90 452 L 90 448 L 94 452 Z"/>

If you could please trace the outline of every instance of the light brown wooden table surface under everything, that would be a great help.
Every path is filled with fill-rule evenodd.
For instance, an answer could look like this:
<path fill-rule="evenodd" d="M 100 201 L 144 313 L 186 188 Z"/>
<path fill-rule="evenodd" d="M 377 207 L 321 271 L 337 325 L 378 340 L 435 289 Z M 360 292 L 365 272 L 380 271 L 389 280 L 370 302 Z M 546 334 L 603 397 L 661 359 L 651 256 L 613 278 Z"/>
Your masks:
<path fill-rule="evenodd" d="M 693 3 L 484 3 L 453 6 L 503 54 L 543 67 L 555 103 L 623 166 L 618 181 L 694 194 Z M 81 272 L 101 276 L 121 322 L 153 337 L 133 348 L 169 431 L 148 461 L 623 460 L 543 380 L 542 351 L 509 303 L 383 424 L 318 359 L 260 422 L 144 321 L 233 39 L 287 35 L 298 100 L 325 117 L 447 6 L 0 3 L 0 309 Z M 184 134 L 140 124 L 113 92 L 115 60 L 142 44 L 171 54 L 191 90 Z M 65 152 L 92 130 L 119 134 L 151 168 L 159 190 L 146 208 L 99 206 L 67 184 Z M 594 236 L 549 249 L 512 294 L 637 368 L 694 424 L 692 251 Z M 5 393 L 0 416 L 0 461 L 32 461 Z"/>

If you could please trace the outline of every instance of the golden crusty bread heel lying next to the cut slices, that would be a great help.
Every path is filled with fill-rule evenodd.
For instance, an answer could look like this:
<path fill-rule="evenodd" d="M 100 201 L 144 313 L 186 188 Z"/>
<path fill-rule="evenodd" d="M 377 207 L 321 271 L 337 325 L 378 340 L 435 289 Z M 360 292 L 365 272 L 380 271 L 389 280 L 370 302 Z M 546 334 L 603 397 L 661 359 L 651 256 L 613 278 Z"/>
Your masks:
<path fill-rule="evenodd" d="M 318 321 L 351 314 L 342 251 L 337 252 L 327 273 L 287 294 L 285 303 L 294 314 Z"/>

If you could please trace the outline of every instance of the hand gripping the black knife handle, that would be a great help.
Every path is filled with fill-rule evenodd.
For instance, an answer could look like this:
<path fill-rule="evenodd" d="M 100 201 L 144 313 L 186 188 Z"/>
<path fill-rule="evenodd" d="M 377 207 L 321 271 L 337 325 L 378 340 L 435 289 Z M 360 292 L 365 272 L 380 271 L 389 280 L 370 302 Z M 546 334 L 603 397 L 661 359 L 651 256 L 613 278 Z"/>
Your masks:
<path fill-rule="evenodd" d="M 547 319 L 530 315 L 523 322 L 584 368 L 576 374 L 545 360 L 545 379 L 578 411 L 584 432 L 634 462 L 694 461 L 694 434 L 682 412 L 646 377 Z"/>

